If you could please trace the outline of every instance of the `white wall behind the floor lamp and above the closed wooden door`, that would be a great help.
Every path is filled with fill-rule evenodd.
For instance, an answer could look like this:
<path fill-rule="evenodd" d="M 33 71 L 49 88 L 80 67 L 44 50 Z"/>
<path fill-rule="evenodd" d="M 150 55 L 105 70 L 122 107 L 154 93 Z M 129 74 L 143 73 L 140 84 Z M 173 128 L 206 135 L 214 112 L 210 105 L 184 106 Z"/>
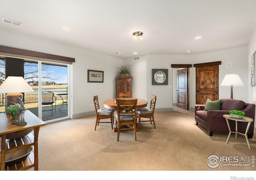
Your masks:
<path fill-rule="evenodd" d="M 196 54 L 192 56 L 191 61 L 194 62 L 194 64 L 221 61 L 221 65 L 219 65 L 219 98 L 230 98 L 230 87 L 220 86 L 224 76 L 226 74 L 238 74 L 244 83 L 244 86 L 233 87 L 233 98 L 244 102 L 250 102 L 248 96 L 248 88 L 250 88 L 248 82 L 250 77 L 248 77 L 247 73 L 247 54 L 248 46 L 244 46 L 240 48 Z M 226 67 L 227 62 L 231 62 L 231 68 Z"/>

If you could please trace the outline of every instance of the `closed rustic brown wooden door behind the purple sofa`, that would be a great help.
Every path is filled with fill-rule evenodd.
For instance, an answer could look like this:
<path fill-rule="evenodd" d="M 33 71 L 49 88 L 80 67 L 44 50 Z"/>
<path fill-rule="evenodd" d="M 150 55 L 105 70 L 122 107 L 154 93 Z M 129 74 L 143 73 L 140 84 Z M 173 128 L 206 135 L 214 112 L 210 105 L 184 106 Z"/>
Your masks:
<path fill-rule="evenodd" d="M 219 99 L 219 63 L 196 67 L 196 104 L 205 104 L 207 98 Z"/>

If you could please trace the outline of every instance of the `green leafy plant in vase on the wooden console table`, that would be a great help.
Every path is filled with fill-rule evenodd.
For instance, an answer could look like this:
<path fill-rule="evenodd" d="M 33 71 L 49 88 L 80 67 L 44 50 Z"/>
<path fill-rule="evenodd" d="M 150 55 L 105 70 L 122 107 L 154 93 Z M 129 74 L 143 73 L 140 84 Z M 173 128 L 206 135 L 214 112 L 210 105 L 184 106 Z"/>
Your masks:
<path fill-rule="evenodd" d="M 17 96 L 18 97 L 18 96 Z M 19 97 L 18 97 L 19 98 Z M 7 116 L 11 115 L 14 120 L 12 124 L 25 125 L 27 122 L 24 120 L 24 112 L 27 110 L 24 106 L 24 102 L 20 99 L 19 103 L 14 103 L 10 105 L 4 111 Z"/>

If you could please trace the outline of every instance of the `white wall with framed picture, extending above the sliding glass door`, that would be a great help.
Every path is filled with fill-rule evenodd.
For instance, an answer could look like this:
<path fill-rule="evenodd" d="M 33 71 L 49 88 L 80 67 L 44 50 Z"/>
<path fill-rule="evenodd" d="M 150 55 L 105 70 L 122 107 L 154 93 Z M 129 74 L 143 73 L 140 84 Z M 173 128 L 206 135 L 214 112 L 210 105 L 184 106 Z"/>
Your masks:
<path fill-rule="evenodd" d="M 0 29 L 0 45 L 75 58 L 76 62 L 72 65 L 73 118 L 95 114 L 93 103 L 93 96 L 95 95 L 99 96 L 100 104 L 106 99 L 115 98 L 117 67 L 124 64 L 124 60 L 121 58 L 69 46 L 68 44 L 23 34 L 14 34 L 2 29 Z M 88 69 L 104 71 L 104 83 L 88 83 Z M 92 104 L 92 107 L 90 107 L 90 104 Z"/>

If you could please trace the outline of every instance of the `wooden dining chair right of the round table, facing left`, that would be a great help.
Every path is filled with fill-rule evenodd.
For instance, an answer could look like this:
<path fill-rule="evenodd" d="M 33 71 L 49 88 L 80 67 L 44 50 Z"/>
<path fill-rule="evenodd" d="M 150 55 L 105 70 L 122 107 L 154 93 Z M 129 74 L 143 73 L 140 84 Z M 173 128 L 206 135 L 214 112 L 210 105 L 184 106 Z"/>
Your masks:
<path fill-rule="evenodd" d="M 154 119 L 154 111 L 155 111 L 155 106 L 156 106 L 156 96 L 151 95 L 151 100 L 150 100 L 150 106 L 149 108 L 141 108 L 137 109 L 137 118 L 139 118 L 139 123 L 138 123 L 138 131 L 140 130 L 140 122 L 152 122 L 154 123 L 154 128 L 156 128 L 155 124 L 155 119 Z M 141 120 L 141 118 L 149 118 L 149 120 Z"/>

